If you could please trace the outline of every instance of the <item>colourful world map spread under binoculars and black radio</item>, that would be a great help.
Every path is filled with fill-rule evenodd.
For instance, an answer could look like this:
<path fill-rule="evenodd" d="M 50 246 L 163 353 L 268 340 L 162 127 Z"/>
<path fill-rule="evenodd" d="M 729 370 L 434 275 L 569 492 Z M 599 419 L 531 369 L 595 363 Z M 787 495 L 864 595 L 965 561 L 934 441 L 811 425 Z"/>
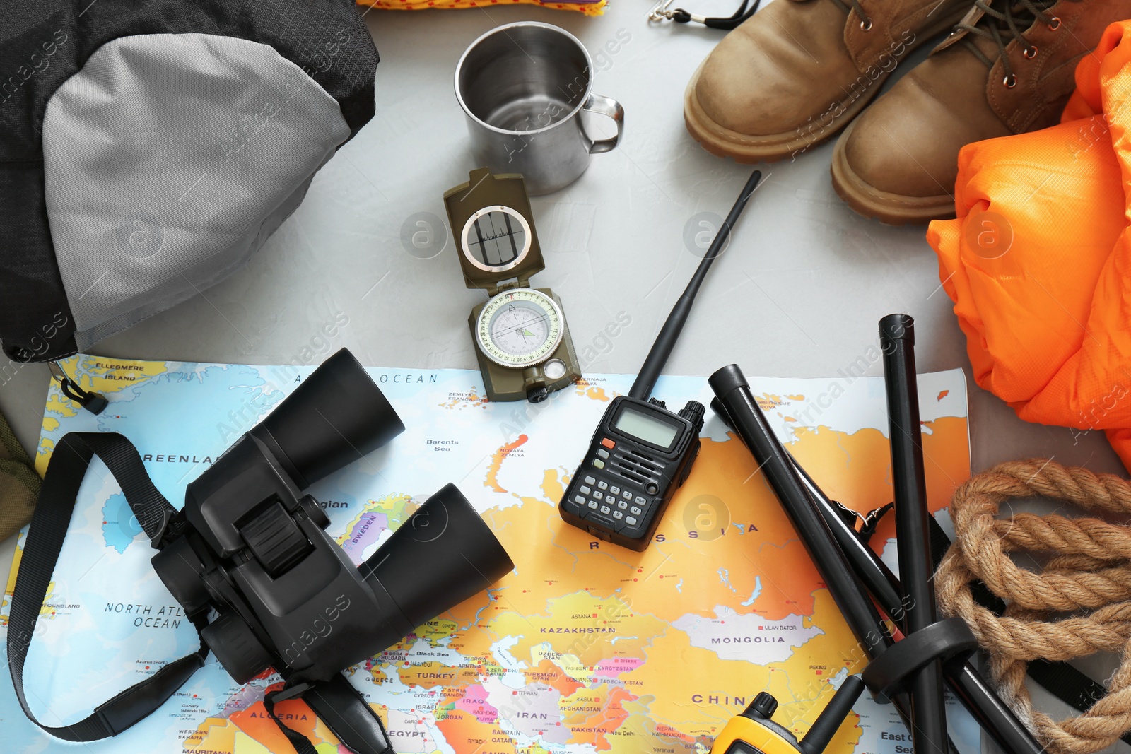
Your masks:
<path fill-rule="evenodd" d="M 121 432 L 175 505 L 188 482 L 313 370 L 94 356 L 63 367 L 110 406 L 93 416 L 53 385 L 40 469 L 67 432 Z M 516 564 L 493 589 L 347 671 L 387 720 L 398 753 L 706 754 L 758 692 L 778 699 L 778 722 L 804 733 L 834 688 L 861 669 L 855 640 L 756 463 L 709 410 L 702 451 L 656 541 L 631 553 L 566 526 L 556 512 L 607 401 L 631 378 L 590 375 L 535 406 L 487 402 L 476 372 L 370 374 L 407 430 L 311 489 L 330 532 L 360 562 L 454 482 Z M 751 382 L 779 436 L 834 499 L 860 511 L 890 500 L 879 378 L 841 372 Z M 674 407 L 710 398 L 702 378 L 664 378 L 656 395 Z M 938 510 L 969 476 L 962 373 L 921 375 L 920 395 Z M 886 520 L 873 539 L 889 563 L 892 525 Z M 197 648 L 191 624 L 149 565 L 152 554 L 96 459 L 25 671 L 29 703 L 46 725 L 81 719 Z M 17 565 L 19 556 L 17 549 Z M 0 638 L 14 582 L 15 571 Z M 84 752 L 291 752 L 264 710 L 264 693 L 276 684 L 269 676 L 238 686 L 209 657 L 157 713 Z M 345 753 L 302 702 L 277 709 L 319 752 Z M 854 711 L 829 754 L 910 752 L 890 705 L 865 694 Z M 976 726 L 960 708 L 950 711 L 959 748 L 977 752 Z M 0 729 L 6 752 L 75 751 L 27 721 L 7 682 Z"/>

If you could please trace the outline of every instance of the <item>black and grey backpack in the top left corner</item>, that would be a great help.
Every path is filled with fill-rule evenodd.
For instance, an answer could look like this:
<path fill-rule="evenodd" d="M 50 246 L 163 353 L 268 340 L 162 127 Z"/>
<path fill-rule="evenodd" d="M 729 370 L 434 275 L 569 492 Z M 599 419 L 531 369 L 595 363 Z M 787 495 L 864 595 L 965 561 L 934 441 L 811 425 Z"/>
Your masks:
<path fill-rule="evenodd" d="M 0 7 L 0 343 L 52 361 L 247 263 L 373 115 L 353 0 Z"/>

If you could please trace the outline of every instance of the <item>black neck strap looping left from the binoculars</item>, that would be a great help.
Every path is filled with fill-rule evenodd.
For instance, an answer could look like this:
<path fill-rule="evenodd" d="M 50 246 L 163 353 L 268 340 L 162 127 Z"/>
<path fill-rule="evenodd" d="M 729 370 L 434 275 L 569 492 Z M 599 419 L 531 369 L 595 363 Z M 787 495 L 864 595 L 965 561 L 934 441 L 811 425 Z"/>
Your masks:
<path fill-rule="evenodd" d="M 198 651 L 170 662 L 145 681 L 133 684 L 100 704 L 92 714 L 78 722 L 52 727 L 32 714 L 24 693 L 24 661 L 67 536 L 79 486 L 94 456 L 102 459 L 121 485 L 130 510 L 155 548 L 159 548 L 165 527 L 176 513 L 176 509 L 153 486 L 137 450 L 122 435 L 71 432 L 55 445 L 16 574 L 8 619 L 8 666 L 24 714 L 52 736 L 74 742 L 115 736 L 137 723 L 164 704 L 193 673 L 204 667 L 208 655 L 208 649 L 201 644 Z M 198 621 L 193 621 L 193 624 L 199 632 L 204 624 Z"/>

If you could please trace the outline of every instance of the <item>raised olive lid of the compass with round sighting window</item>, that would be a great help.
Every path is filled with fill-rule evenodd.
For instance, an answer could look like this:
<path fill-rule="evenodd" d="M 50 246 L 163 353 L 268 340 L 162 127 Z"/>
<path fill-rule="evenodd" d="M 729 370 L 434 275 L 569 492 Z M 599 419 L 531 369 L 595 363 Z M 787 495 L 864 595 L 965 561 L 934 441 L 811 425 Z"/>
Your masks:
<path fill-rule="evenodd" d="M 526 287 L 545 268 L 520 174 L 474 170 L 467 183 L 444 192 L 443 206 L 468 288 L 494 293 L 512 279 Z"/>

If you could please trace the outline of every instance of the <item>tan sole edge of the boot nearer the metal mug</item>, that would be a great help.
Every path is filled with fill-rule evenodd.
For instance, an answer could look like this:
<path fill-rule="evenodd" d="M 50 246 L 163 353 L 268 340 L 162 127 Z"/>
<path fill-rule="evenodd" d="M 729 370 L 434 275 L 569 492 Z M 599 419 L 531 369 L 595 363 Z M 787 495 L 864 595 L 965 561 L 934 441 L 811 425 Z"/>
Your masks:
<path fill-rule="evenodd" d="M 913 50 L 921 47 L 938 34 L 953 27 L 966 15 L 966 10 L 964 7 L 960 9 L 960 12 L 953 12 L 950 17 L 943 18 L 933 26 L 924 29 L 922 34 L 917 34 L 915 43 L 908 45 L 907 54 L 910 54 Z M 906 57 L 905 54 L 900 59 L 900 62 Z M 798 137 L 798 129 L 784 133 L 751 136 L 719 125 L 699 105 L 699 98 L 696 97 L 696 84 L 699 83 L 699 73 L 702 71 L 706 62 L 703 60 L 702 63 L 699 63 L 699 68 L 696 69 L 691 80 L 688 83 L 687 90 L 683 93 L 683 122 L 687 124 L 688 132 L 696 141 L 702 145 L 703 149 L 718 157 L 732 157 L 740 164 L 758 162 L 776 163 L 779 159 L 803 154 L 812 147 L 824 144 L 844 130 L 872 102 L 883 87 L 883 83 L 891 75 L 891 71 L 883 71 L 883 76 L 877 78 L 867 92 L 854 102 L 845 105 L 845 112 L 815 137 L 812 135 Z"/>

